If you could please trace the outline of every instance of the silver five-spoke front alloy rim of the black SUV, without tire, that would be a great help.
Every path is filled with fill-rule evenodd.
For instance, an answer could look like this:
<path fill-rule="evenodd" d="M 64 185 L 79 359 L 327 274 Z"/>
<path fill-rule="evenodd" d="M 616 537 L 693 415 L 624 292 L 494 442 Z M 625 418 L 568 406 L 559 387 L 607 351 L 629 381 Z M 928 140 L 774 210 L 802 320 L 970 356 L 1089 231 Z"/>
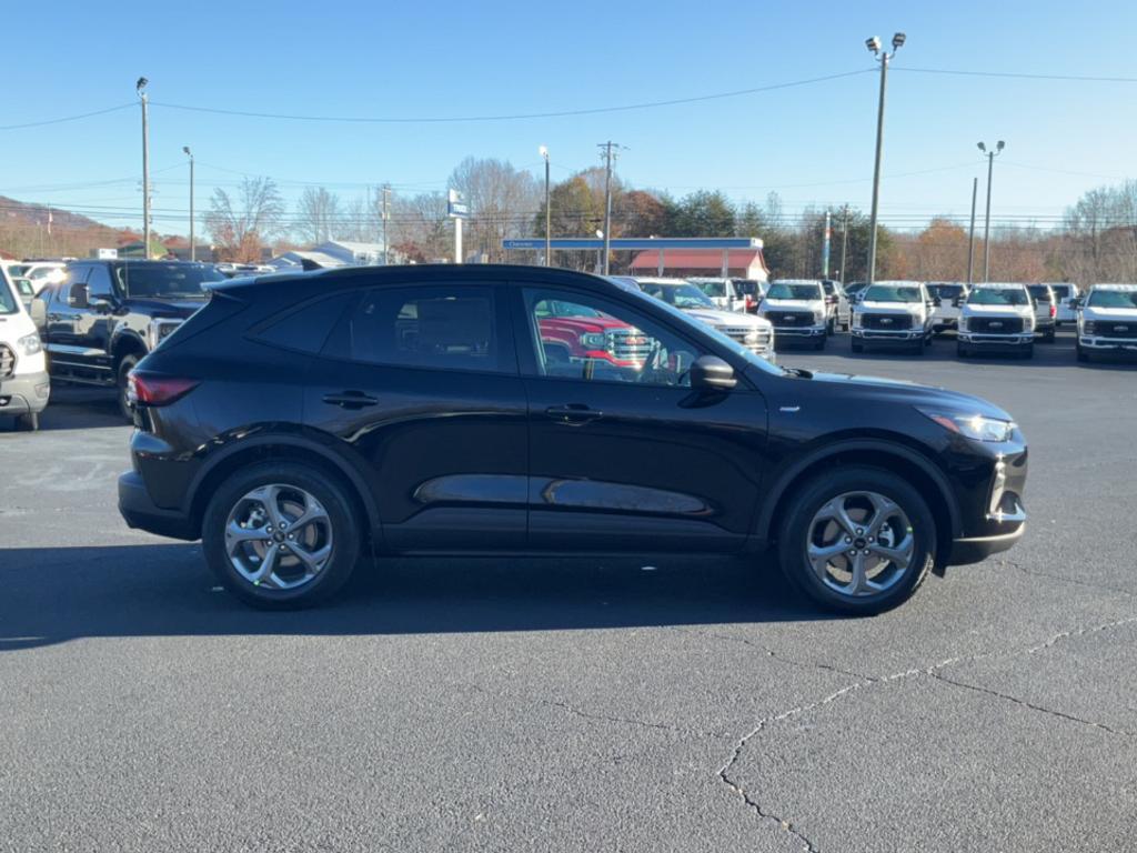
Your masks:
<path fill-rule="evenodd" d="M 912 523 L 895 500 L 875 491 L 838 495 L 818 510 L 807 530 L 806 560 L 818 579 L 841 595 L 887 593 L 912 565 Z"/>

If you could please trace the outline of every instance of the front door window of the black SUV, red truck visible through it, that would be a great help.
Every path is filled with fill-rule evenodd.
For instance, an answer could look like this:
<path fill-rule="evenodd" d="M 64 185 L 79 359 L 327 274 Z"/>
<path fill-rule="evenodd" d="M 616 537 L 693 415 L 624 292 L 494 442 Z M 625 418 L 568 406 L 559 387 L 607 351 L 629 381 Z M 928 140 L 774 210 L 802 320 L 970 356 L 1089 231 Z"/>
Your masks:
<path fill-rule="evenodd" d="M 526 290 L 525 308 L 540 376 L 686 388 L 703 355 L 655 321 L 590 295 Z"/>

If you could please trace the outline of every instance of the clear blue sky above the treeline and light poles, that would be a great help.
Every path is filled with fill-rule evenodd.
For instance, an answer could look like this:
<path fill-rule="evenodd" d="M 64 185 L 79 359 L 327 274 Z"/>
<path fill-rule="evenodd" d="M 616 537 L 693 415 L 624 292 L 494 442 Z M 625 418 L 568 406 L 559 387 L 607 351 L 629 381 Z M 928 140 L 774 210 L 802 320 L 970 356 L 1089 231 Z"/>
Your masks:
<path fill-rule="evenodd" d="M 445 189 L 465 156 L 554 179 L 628 147 L 621 175 L 681 196 L 771 189 L 787 210 L 868 209 L 877 77 L 592 116 L 454 124 L 334 124 L 185 111 L 158 103 L 305 115 L 500 115 L 702 96 L 872 68 L 864 39 L 907 43 L 889 74 L 881 210 L 905 224 L 966 213 L 985 165 L 976 141 L 1007 141 L 996 216 L 1061 215 L 1085 190 L 1137 176 L 1137 83 L 962 77 L 939 68 L 1137 76 L 1137 3 L 197 2 L 9 3 L 0 125 L 134 100 L 150 80 L 156 227 L 185 231 L 183 144 L 198 158 L 199 207 L 240 173 L 342 197 L 365 184 Z M 10 38 L 23 33 L 27 38 Z M 136 108 L 0 131 L 0 194 L 60 207 L 141 204 Z M 907 174 L 907 173 L 922 174 Z M 92 182 L 108 182 L 90 185 Z M 168 217 L 168 218 L 167 218 Z"/>

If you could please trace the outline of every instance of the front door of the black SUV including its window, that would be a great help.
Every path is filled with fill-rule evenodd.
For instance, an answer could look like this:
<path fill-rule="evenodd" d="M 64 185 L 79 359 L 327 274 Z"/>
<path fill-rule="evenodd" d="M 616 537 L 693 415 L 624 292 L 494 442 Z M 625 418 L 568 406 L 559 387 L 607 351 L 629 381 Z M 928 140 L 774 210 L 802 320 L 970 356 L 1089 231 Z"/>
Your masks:
<path fill-rule="evenodd" d="M 572 363 L 579 378 L 536 346 L 538 336 L 548 337 L 541 317 L 553 299 L 562 315 L 545 322 L 575 324 L 594 346 Z M 578 318 L 566 305 L 580 306 Z M 705 353 L 629 306 L 533 289 L 520 310 L 528 339 L 522 346 L 537 355 L 522 358 L 523 370 L 534 363 L 525 379 L 530 544 L 566 550 L 740 548 L 762 488 L 762 395 L 744 382 L 725 394 L 692 390 L 684 366 Z M 646 339 L 634 356 L 641 361 L 630 364 L 625 349 L 605 354 L 595 337 L 601 329 L 617 347 Z M 604 370 L 591 362 L 604 362 Z"/>

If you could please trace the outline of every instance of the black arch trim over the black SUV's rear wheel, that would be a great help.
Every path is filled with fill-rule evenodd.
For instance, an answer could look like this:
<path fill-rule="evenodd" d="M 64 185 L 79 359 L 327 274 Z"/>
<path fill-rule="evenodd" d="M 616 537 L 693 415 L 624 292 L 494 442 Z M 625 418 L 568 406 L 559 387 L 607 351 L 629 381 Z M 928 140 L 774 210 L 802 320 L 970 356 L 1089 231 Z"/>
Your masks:
<path fill-rule="evenodd" d="M 382 536 L 379 506 L 366 481 L 346 459 L 324 445 L 299 434 L 263 434 L 217 452 L 193 478 L 186 507 L 191 524 L 201 532 L 206 507 L 217 488 L 234 472 L 260 462 L 298 462 L 340 481 L 374 546 Z"/>

